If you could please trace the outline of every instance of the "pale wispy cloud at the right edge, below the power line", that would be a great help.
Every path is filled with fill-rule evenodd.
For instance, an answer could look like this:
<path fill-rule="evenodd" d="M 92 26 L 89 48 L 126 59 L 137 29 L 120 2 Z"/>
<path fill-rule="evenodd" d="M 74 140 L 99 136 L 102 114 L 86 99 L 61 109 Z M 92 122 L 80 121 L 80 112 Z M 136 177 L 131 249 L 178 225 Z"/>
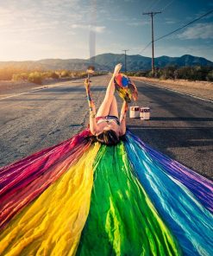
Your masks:
<path fill-rule="evenodd" d="M 180 39 L 213 39 L 213 23 L 198 23 L 179 34 Z"/>

